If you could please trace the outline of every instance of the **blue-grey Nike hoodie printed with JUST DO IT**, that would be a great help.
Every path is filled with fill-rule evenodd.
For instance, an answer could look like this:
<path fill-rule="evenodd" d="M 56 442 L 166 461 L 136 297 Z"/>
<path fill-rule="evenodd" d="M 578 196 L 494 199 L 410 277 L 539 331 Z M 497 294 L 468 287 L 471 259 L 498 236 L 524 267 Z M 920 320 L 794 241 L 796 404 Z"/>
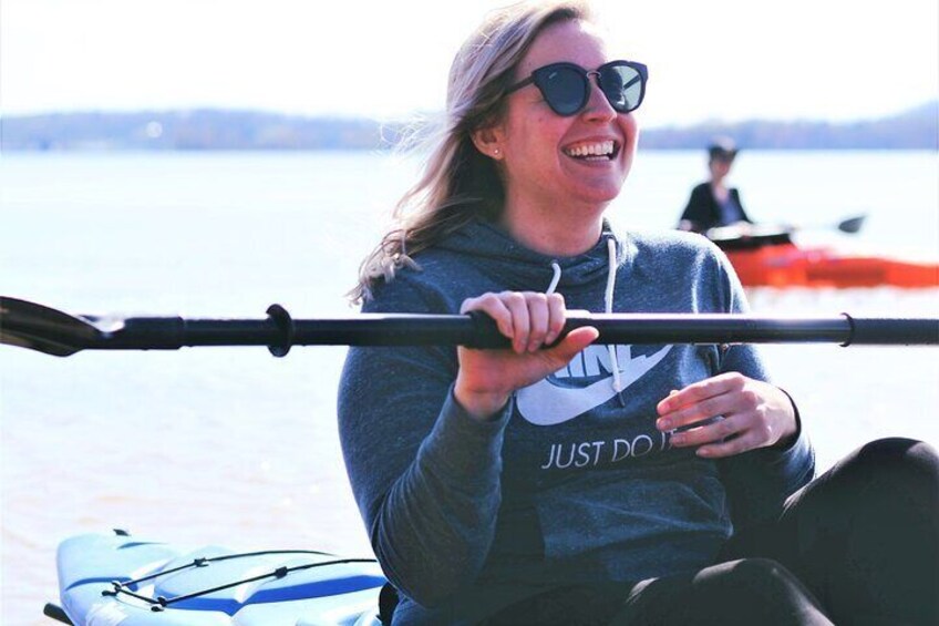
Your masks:
<path fill-rule="evenodd" d="M 486 291 L 545 291 L 568 309 L 743 312 L 723 254 L 687 233 L 622 239 L 605 226 L 569 258 L 475 223 L 416 255 L 367 312 L 460 310 Z M 671 448 L 656 404 L 726 371 L 766 380 L 751 346 L 589 346 L 518 390 L 492 422 L 453 400 L 456 350 L 352 348 L 339 394 L 343 454 L 375 555 L 402 594 L 395 624 L 471 624 L 551 586 L 641 581 L 711 564 L 814 474 L 785 450 L 722 461 Z"/>

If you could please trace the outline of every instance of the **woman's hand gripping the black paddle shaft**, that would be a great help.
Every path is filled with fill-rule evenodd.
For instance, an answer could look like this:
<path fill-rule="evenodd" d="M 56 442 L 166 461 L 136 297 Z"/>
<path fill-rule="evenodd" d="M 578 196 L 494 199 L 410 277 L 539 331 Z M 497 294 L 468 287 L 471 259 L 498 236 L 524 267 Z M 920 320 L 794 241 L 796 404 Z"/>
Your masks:
<path fill-rule="evenodd" d="M 503 291 L 463 301 L 460 312 L 482 311 L 492 317 L 512 348 L 475 350 L 460 347 L 460 371 L 454 384 L 456 401 L 474 418 L 495 415 L 516 389 L 527 387 L 565 367 L 592 343 L 599 332 L 585 326 L 570 331 L 557 346 L 567 318 L 560 294 Z"/>

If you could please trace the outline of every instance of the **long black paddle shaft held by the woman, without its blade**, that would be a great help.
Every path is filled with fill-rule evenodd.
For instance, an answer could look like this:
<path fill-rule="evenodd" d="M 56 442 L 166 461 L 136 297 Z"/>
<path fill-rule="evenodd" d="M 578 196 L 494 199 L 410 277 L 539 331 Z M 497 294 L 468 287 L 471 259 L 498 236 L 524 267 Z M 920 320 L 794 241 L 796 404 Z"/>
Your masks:
<path fill-rule="evenodd" d="M 94 318 L 89 318 L 94 319 Z M 598 343 L 939 343 L 939 320 L 847 315 L 780 318 L 750 315 L 594 314 L 568 318 L 565 332 L 592 326 Z M 194 346 L 438 346 L 505 348 L 509 340 L 483 315 L 383 315 L 321 319 L 137 317 L 87 349 L 175 350 Z M 280 355 L 278 355 L 280 356 Z"/>

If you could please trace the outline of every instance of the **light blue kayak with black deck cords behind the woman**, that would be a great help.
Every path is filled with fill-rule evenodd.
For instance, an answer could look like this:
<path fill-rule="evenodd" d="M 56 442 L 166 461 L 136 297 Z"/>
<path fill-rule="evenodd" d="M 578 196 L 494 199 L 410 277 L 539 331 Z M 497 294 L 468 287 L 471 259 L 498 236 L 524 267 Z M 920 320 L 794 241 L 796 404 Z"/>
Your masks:
<path fill-rule="evenodd" d="M 374 558 L 310 551 L 192 551 L 122 531 L 58 551 L 61 607 L 79 626 L 374 626 L 386 581 Z"/>

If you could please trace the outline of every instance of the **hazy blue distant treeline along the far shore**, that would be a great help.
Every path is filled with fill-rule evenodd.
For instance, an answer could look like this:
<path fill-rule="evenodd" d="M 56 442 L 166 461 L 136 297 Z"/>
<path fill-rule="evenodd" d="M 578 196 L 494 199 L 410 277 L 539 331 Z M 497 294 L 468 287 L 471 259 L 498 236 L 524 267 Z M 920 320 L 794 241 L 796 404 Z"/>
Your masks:
<path fill-rule="evenodd" d="M 3 151 L 383 150 L 403 126 L 368 119 L 302 117 L 257 111 L 59 113 L 0 119 Z M 939 101 L 852 123 L 708 122 L 642 132 L 646 150 L 698 150 L 714 135 L 757 150 L 939 150 Z"/>

